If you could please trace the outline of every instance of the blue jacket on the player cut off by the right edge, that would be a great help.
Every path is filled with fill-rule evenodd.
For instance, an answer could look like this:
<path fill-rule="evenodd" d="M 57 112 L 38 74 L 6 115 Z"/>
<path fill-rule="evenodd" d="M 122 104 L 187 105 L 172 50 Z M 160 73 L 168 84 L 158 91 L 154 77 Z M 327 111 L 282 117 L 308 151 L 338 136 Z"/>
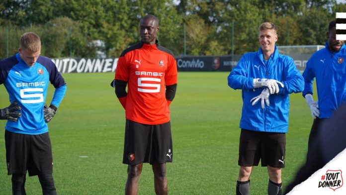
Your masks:
<path fill-rule="evenodd" d="M 339 52 L 326 47 L 315 52 L 306 64 L 303 72 L 304 91 L 313 94 L 312 83 L 316 77 L 319 118 L 329 118 L 338 107 L 346 102 L 346 45 Z"/>

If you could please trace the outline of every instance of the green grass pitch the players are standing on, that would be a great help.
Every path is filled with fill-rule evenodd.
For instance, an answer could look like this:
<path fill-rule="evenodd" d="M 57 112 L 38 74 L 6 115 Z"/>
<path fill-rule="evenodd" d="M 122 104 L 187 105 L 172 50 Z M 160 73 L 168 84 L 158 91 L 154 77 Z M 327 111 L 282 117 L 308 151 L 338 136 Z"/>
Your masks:
<path fill-rule="evenodd" d="M 227 85 L 226 72 L 179 72 L 171 104 L 174 161 L 167 166 L 171 195 L 235 194 L 238 178 L 240 90 Z M 64 74 L 66 96 L 49 123 L 54 179 L 60 195 L 124 194 L 127 166 L 122 164 L 125 113 L 109 83 L 114 73 Z M 53 95 L 49 88 L 47 104 Z M 0 107 L 9 105 L 0 87 Z M 313 118 L 301 94 L 290 96 L 289 131 L 283 186 L 305 161 Z M 0 195 L 11 194 L 0 121 Z M 80 156 L 87 156 L 81 158 Z M 149 164 L 143 166 L 139 195 L 155 194 Z M 255 167 L 251 194 L 267 194 L 265 167 Z M 37 176 L 27 177 L 28 195 L 39 195 Z"/>

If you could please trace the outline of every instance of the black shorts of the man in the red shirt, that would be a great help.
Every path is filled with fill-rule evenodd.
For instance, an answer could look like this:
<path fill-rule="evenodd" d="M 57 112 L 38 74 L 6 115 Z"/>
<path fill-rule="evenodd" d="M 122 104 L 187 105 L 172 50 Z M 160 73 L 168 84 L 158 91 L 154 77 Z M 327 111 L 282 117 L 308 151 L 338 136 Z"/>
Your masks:
<path fill-rule="evenodd" d="M 166 163 L 173 161 L 171 122 L 149 125 L 126 119 L 123 163 Z"/>

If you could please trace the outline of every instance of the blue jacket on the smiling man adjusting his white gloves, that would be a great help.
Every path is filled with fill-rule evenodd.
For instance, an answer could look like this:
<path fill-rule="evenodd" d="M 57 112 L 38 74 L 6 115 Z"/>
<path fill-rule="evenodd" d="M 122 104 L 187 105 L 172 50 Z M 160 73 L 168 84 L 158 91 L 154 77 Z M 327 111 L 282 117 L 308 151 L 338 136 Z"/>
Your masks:
<path fill-rule="evenodd" d="M 259 96 L 264 88 L 254 89 L 254 79 L 274 79 L 283 83 L 279 94 L 269 96 L 269 106 L 262 109 L 260 102 L 252 105 L 250 100 Z M 293 59 L 275 51 L 270 56 L 267 66 L 263 62 L 261 48 L 258 52 L 246 53 L 228 76 L 228 85 L 242 90 L 243 109 L 240 128 L 286 133 L 288 130 L 289 94 L 303 91 L 304 81 Z"/>

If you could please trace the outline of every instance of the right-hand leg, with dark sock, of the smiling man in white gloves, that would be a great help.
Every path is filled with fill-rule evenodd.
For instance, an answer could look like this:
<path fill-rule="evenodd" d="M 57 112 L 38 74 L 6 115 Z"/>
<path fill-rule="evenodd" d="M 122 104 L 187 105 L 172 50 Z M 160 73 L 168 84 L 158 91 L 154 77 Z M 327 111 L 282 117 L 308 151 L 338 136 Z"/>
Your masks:
<path fill-rule="evenodd" d="M 267 166 L 269 174 L 268 195 L 281 195 L 282 182 L 281 182 L 281 168 Z"/>

